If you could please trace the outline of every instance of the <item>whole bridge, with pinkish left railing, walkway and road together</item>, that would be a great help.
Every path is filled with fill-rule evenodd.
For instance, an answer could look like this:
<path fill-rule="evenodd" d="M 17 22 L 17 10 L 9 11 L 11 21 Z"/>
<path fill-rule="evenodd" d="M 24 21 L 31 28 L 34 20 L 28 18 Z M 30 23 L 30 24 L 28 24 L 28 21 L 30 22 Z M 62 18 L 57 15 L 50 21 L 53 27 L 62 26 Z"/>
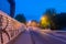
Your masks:
<path fill-rule="evenodd" d="M 0 11 L 0 44 L 66 44 L 66 31 L 25 28 Z"/>

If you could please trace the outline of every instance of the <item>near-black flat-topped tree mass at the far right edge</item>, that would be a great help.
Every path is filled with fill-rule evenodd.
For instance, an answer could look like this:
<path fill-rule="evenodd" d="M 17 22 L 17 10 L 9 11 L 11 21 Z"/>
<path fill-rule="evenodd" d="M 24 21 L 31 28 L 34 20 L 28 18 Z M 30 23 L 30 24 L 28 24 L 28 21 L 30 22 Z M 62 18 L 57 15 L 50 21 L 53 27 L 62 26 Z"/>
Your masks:
<path fill-rule="evenodd" d="M 66 13 L 58 13 L 56 15 L 58 29 L 66 28 Z"/>

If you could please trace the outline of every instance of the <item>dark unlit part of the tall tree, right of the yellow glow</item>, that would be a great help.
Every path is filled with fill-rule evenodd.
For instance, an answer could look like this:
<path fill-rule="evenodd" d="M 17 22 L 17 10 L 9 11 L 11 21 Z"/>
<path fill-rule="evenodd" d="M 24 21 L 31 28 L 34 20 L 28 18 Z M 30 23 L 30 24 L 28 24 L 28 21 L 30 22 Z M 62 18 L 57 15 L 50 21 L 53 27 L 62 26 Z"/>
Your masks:
<path fill-rule="evenodd" d="M 48 21 L 51 22 L 51 29 L 56 29 L 56 25 L 55 25 L 56 10 L 55 9 L 46 9 L 45 15 L 48 18 Z"/>

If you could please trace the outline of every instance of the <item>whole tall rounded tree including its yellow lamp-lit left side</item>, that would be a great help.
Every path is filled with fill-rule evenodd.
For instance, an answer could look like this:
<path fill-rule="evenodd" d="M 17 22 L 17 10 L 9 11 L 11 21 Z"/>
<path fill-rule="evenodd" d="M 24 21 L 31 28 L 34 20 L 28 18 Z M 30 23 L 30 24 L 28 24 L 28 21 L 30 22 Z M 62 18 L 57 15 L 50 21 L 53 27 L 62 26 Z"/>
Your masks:
<path fill-rule="evenodd" d="M 45 13 L 44 13 L 44 15 L 42 16 L 42 20 L 41 20 L 41 22 L 43 22 L 43 23 L 46 22 L 45 24 L 43 24 L 45 28 L 56 29 L 56 25 L 55 25 L 55 22 L 56 22 L 55 14 L 56 14 L 55 9 L 46 9 L 46 11 L 45 11 Z"/>

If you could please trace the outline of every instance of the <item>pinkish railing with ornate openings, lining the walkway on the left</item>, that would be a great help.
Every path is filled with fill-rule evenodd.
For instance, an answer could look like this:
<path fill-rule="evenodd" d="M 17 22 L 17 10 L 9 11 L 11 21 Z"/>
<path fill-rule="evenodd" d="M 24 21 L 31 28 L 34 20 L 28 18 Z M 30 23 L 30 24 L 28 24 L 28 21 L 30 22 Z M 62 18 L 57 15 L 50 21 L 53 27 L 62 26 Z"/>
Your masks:
<path fill-rule="evenodd" d="M 24 31 L 22 23 L 0 11 L 0 44 L 7 44 Z"/>

